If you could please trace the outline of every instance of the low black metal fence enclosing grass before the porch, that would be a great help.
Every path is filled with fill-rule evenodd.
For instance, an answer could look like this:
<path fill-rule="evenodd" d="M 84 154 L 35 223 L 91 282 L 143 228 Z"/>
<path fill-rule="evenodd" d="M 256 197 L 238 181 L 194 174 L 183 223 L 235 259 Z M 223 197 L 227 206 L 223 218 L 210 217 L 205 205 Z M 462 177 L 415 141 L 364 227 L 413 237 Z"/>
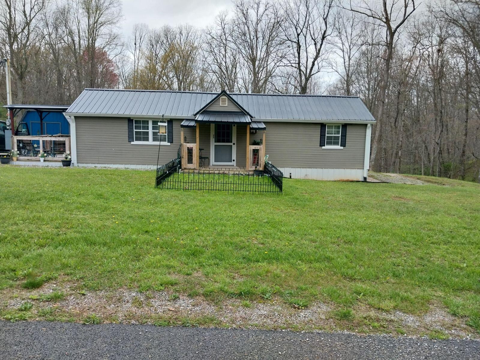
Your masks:
<path fill-rule="evenodd" d="M 174 159 L 157 167 L 155 187 L 208 192 L 282 192 L 283 173 L 271 163 L 266 163 L 264 168 L 253 173 L 215 169 L 180 171 L 180 159 Z"/>

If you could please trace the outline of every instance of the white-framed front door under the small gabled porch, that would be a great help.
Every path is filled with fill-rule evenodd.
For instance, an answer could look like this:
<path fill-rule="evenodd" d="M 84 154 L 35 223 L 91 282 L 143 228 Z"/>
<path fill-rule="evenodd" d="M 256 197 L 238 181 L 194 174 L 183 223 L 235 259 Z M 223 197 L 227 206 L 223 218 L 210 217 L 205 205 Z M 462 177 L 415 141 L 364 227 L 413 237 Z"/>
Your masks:
<path fill-rule="evenodd" d="M 237 128 L 232 124 L 211 124 L 212 165 L 235 166 Z"/>

